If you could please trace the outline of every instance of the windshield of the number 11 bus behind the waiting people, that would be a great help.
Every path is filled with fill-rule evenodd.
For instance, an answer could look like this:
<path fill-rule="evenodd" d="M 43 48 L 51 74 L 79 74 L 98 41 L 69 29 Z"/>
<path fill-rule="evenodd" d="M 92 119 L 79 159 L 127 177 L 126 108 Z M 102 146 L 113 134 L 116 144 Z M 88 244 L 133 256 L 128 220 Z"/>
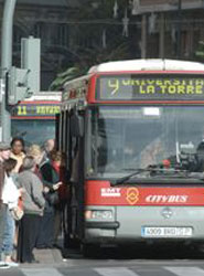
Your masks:
<path fill-rule="evenodd" d="M 37 144 L 42 146 L 45 140 L 55 137 L 55 120 L 21 119 L 12 120 L 12 137 L 22 137 L 26 146 Z"/>

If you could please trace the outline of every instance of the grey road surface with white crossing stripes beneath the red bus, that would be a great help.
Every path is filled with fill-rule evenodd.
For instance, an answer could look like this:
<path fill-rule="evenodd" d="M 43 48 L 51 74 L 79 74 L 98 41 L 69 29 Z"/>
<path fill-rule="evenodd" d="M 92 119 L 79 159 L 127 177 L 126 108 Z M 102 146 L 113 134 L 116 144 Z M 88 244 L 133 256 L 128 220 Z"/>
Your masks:
<path fill-rule="evenodd" d="M 126 250 L 105 248 L 92 258 L 77 251 L 64 252 L 64 256 L 56 248 L 35 251 L 40 264 L 0 269 L 0 276 L 204 276 L 203 251 L 187 246 Z"/>

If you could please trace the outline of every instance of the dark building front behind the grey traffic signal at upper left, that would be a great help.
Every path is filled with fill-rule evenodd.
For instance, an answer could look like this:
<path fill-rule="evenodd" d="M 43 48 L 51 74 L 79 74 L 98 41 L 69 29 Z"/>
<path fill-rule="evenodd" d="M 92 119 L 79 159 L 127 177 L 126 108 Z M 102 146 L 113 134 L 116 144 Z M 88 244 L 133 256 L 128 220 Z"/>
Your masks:
<path fill-rule="evenodd" d="M 2 19 L 3 0 L 0 1 Z M 13 20 L 13 65 L 20 67 L 21 39 L 41 39 L 41 89 L 47 89 L 60 71 L 75 59 L 71 50 L 69 14 L 77 12 L 78 1 L 17 0 Z"/>

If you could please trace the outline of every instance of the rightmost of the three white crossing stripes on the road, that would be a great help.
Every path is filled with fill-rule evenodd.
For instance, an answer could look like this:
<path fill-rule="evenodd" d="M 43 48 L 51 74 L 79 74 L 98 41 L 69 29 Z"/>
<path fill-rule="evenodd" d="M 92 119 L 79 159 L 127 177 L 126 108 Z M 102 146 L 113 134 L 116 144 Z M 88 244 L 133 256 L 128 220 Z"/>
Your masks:
<path fill-rule="evenodd" d="M 178 276 L 204 276 L 204 270 L 198 267 L 164 266 L 164 268 Z"/>

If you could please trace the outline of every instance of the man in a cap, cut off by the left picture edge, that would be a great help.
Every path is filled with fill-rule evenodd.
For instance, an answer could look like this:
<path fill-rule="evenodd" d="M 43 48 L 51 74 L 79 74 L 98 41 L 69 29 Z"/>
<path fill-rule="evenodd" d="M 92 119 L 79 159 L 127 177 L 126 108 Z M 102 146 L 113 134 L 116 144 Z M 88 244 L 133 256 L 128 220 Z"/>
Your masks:
<path fill-rule="evenodd" d="M 2 191 L 4 185 L 3 161 L 9 159 L 9 157 L 10 157 L 10 145 L 7 142 L 0 142 L 0 268 L 10 267 L 8 264 L 1 261 L 6 214 L 7 214 L 7 205 L 2 203 Z"/>

